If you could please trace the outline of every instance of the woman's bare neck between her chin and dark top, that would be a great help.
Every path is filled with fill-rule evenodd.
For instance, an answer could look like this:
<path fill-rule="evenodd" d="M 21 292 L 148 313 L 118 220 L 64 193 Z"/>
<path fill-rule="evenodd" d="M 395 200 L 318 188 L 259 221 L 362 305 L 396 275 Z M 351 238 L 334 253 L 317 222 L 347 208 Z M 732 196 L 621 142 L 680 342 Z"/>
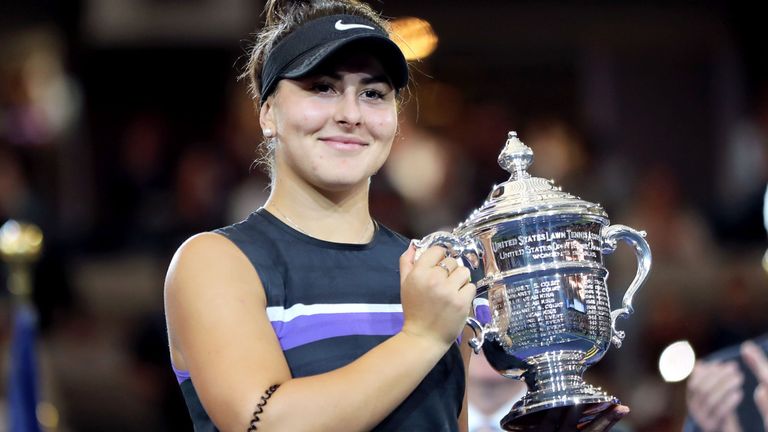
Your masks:
<path fill-rule="evenodd" d="M 320 240 L 364 244 L 375 231 L 367 182 L 344 191 L 324 191 L 278 178 L 264 207 L 293 229 Z"/>

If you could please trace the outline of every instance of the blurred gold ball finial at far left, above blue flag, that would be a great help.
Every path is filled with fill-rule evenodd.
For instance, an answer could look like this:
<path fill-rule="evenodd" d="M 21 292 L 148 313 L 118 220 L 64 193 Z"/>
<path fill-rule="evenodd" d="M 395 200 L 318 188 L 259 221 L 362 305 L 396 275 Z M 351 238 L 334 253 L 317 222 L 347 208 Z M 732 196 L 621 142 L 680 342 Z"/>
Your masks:
<path fill-rule="evenodd" d="M 8 265 L 8 289 L 21 301 L 32 295 L 30 267 L 42 249 L 43 233 L 36 225 L 9 220 L 0 227 L 0 258 Z"/>

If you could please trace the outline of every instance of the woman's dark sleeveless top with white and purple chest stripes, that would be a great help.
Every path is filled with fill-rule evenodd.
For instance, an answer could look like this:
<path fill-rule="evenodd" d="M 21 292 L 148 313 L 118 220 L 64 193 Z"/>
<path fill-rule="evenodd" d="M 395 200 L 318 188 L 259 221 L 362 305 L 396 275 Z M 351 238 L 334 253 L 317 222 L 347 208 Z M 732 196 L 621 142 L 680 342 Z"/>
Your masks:
<path fill-rule="evenodd" d="M 294 378 L 343 367 L 403 325 L 398 258 L 408 240 L 378 225 L 368 244 L 331 243 L 296 231 L 264 209 L 218 229 L 250 259 L 267 315 Z M 194 389 L 176 371 L 195 430 L 215 431 Z M 411 395 L 373 430 L 456 431 L 464 364 L 453 344 Z"/>

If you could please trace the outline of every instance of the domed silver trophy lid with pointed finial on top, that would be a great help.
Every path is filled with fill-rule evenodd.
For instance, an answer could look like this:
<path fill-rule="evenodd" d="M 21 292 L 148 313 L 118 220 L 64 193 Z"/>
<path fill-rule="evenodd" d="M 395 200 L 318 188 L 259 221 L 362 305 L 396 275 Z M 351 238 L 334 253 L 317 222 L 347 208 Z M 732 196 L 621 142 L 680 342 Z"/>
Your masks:
<path fill-rule="evenodd" d="M 600 204 L 584 201 L 563 192 L 553 180 L 532 177 L 527 169 L 533 162 L 533 150 L 520 141 L 516 132 L 509 132 L 498 160 L 499 165 L 511 174 L 509 180 L 493 187 L 483 205 L 456 228 L 457 234 L 501 218 L 545 213 L 581 214 L 596 217 L 607 223 L 608 215 Z"/>

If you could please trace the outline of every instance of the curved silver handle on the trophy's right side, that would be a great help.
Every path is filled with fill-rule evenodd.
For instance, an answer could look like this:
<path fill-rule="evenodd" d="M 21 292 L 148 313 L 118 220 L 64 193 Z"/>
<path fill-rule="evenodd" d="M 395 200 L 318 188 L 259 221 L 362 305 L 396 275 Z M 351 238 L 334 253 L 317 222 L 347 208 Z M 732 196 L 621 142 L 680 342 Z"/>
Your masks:
<path fill-rule="evenodd" d="M 613 342 L 616 348 L 621 348 L 621 343 L 625 336 L 623 331 L 616 329 L 616 320 L 626 318 L 634 311 L 632 308 L 632 298 L 643 282 L 645 282 L 651 269 L 651 248 L 648 246 L 648 242 L 645 241 L 645 235 L 645 231 L 637 231 L 625 225 L 611 225 L 603 228 L 602 231 L 603 254 L 613 253 L 616 250 L 618 241 L 624 240 L 635 247 L 635 255 L 637 256 L 637 273 L 635 273 L 635 278 L 629 284 L 627 292 L 624 293 L 621 308 L 611 312 L 611 342 Z"/>

